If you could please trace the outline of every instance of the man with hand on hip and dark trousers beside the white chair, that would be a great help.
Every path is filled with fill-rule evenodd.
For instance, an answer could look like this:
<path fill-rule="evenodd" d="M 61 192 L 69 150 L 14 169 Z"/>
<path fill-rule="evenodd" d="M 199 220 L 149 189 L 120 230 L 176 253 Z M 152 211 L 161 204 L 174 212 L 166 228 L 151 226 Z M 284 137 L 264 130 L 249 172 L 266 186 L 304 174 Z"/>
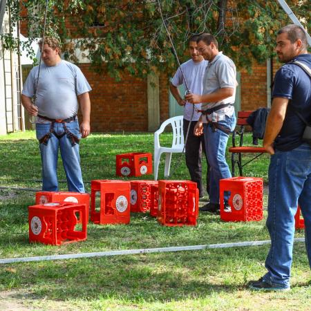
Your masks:
<path fill-rule="evenodd" d="M 178 86 L 181 84 L 185 85 L 184 77 L 185 76 L 187 86 L 190 91 L 195 94 L 202 94 L 203 91 L 203 77 L 205 75 L 205 69 L 207 67 L 207 61 L 198 53 L 196 40 L 198 35 L 193 35 L 189 39 L 189 54 L 191 59 L 183 63 L 176 74 L 173 76 L 173 79 L 170 83 L 170 90 L 175 97 L 176 101 L 180 106 L 184 106 L 184 120 L 183 120 L 183 131 L 186 138 L 187 129 L 190 122 L 190 129 L 187 138 L 185 154 L 186 154 L 186 164 L 189 169 L 191 180 L 196 182 L 200 192 L 200 197 L 204 195 L 203 185 L 202 185 L 202 150 L 205 153 L 205 142 L 203 136 L 194 135 L 194 126 L 199 120 L 200 114 L 197 110 L 201 109 L 201 104 L 190 104 L 184 100 L 184 96 L 180 95 L 178 91 Z M 195 107 L 194 107 L 195 106 Z M 206 156 L 205 156 L 206 158 Z M 208 162 L 207 162 L 208 163 Z M 209 169 L 207 169 L 207 172 Z M 208 175 L 208 173 L 207 173 Z M 209 192 L 209 183 L 207 178 L 207 192 Z"/>

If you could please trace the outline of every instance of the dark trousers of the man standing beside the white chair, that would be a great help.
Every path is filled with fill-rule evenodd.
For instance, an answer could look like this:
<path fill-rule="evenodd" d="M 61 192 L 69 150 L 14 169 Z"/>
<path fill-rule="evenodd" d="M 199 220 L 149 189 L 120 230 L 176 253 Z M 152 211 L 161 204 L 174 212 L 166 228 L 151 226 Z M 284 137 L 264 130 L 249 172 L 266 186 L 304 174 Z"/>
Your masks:
<path fill-rule="evenodd" d="M 189 122 L 184 119 L 183 122 L 183 130 L 184 130 L 184 137 L 186 139 L 187 129 L 189 126 Z M 189 134 L 186 143 L 186 164 L 191 176 L 191 180 L 196 182 L 198 185 L 198 189 L 200 191 L 200 196 L 203 196 L 204 189 L 202 184 L 202 151 L 205 154 L 206 162 L 207 162 L 207 175 L 206 175 L 206 182 L 207 182 L 207 194 L 209 194 L 209 162 L 207 161 L 207 156 L 205 153 L 205 142 L 204 136 L 195 136 L 194 135 L 194 126 L 196 125 L 196 121 L 191 121 Z"/>

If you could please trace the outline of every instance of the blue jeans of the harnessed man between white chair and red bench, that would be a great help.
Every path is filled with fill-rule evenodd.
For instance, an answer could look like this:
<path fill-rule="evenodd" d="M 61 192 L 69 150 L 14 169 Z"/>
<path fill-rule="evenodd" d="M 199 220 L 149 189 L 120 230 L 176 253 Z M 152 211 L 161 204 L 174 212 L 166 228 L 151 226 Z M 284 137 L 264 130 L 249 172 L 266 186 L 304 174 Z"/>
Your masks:
<path fill-rule="evenodd" d="M 218 122 L 230 131 L 236 126 L 236 116 L 228 117 Z M 207 160 L 209 162 L 209 202 L 219 204 L 219 180 L 230 178 L 231 172 L 226 162 L 225 153 L 229 134 L 214 129 L 209 124 L 203 124 L 205 149 Z M 228 200 L 229 194 L 225 194 L 225 200 Z"/>

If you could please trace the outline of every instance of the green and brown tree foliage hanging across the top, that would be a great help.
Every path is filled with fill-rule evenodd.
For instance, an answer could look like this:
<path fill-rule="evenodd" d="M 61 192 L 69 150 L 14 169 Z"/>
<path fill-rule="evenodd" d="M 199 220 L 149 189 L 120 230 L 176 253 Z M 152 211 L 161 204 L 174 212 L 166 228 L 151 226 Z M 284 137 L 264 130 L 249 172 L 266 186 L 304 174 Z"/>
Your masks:
<path fill-rule="evenodd" d="M 310 30 L 309 0 L 287 2 Z M 45 5 L 46 0 L 8 1 L 13 24 L 28 20 L 30 40 L 42 35 Z M 160 6 L 181 62 L 188 58 L 189 36 L 209 32 L 239 68 L 250 68 L 273 54 L 276 30 L 291 23 L 277 1 L 160 0 Z M 138 76 L 176 70 L 158 0 L 49 0 L 46 34 L 59 36 L 67 59 L 77 62 L 79 48 L 94 70 L 115 77 L 124 70 Z M 12 35 L 2 39 L 8 48 L 17 47 Z"/>

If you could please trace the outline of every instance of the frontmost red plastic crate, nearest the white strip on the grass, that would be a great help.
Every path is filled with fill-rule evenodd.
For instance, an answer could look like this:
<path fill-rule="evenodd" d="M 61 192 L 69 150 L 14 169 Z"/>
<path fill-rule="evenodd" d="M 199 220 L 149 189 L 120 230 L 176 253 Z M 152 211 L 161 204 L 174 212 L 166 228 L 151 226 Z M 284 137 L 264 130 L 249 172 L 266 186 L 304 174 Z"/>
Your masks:
<path fill-rule="evenodd" d="M 80 220 L 80 221 L 79 221 Z M 86 205 L 50 202 L 28 207 L 29 241 L 62 245 L 86 240 Z M 78 225 L 82 229 L 75 228 Z"/>

